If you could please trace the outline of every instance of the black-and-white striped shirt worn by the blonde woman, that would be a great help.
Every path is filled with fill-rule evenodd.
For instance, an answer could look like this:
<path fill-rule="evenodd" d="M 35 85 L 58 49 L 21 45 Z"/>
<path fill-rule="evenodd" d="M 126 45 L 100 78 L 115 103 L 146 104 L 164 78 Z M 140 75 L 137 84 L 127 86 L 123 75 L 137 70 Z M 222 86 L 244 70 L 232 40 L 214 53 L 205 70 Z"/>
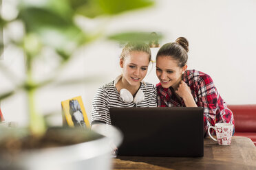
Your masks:
<path fill-rule="evenodd" d="M 116 90 L 114 81 L 98 88 L 92 101 L 91 124 L 102 122 L 111 125 L 109 108 L 156 107 L 156 86 L 145 82 L 140 85 L 140 89 L 143 91 L 145 99 L 138 104 L 134 104 L 134 102 L 125 103 L 124 101 L 120 101 L 120 94 Z"/>

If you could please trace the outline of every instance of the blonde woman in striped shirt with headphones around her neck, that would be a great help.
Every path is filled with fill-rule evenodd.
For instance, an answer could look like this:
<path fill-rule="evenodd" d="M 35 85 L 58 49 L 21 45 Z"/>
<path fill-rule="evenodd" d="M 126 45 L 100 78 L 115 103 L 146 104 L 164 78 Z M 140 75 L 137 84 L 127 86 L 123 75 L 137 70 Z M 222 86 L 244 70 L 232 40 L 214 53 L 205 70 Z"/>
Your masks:
<path fill-rule="evenodd" d="M 122 75 L 98 88 L 92 102 L 92 129 L 111 125 L 111 107 L 156 107 L 156 86 L 143 82 L 147 74 L 151 51 L 149 45 L 129 42 L 120 55 Z"/>

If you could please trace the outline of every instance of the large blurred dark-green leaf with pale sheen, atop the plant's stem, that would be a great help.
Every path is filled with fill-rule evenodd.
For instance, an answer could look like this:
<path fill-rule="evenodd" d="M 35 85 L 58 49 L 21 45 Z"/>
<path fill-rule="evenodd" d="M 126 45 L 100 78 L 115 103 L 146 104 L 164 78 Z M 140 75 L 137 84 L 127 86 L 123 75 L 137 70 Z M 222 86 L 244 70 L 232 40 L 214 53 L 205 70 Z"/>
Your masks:
<path fill-rule="evenodd" d="M 44 45 L 54 49 L 72 53 L 72 50 L 87 40 L 72 19 L 64 18 L 47 8 L 23 8 L 18 18 L 24 22 L 27 34 L 36 34 Z"/>

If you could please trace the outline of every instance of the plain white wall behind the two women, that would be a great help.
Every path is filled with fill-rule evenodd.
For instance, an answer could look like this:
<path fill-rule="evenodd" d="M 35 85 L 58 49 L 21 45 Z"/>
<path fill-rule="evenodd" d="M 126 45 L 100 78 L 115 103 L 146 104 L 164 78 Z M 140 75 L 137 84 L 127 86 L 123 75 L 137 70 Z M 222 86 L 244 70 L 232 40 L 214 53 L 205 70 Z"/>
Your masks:
<path fill-rule="evenodd" d="M 256 1 L 254 0 L 184 0 L 158 1 L 155 8 L 122 14 L 108 21 L 107 34 L 120 30 L 156 31 L 164 34 L 162 44 L 173 42 L 179 36 L 189 40 L 189 69 L 208 73 L 217 90 L 227 104 L 256 104 L 255 47 L 256 47 Z M 90 29 L 99 24 L 87 25 Z M 114 80 L 120 73 L 118 45 L 114 42 L 98 41 L 87 46 L 65 68 L 60 80 L 70 77 L 95 77 L 87 84 L 76 86 L 47 86 L 39 91 L 36 99 L 42 112 L 57 112 L 52 119 L 61 124 L 61 100 L 82 95 L 89 119 L 94 93 L 99 86 Z M 152 49 L 153 58 L 157 49 Z M 10 69 L 24 73 L 24 62 L 6 49 L 4 60 Z M 43 68 L 43 69 L 42 69 Z M 54 71 L 47 65 L 39 69 L 39 75 Z M 153 70 L 146 81 L 158 82 Z M 85 78 L 86 80 L 86 78 Z M 0 73 L 0 89 L 12 86 Z M 23 93 L 1 101 L 1 109 L 7 121 L 25 124 L 26 107 Z"/>

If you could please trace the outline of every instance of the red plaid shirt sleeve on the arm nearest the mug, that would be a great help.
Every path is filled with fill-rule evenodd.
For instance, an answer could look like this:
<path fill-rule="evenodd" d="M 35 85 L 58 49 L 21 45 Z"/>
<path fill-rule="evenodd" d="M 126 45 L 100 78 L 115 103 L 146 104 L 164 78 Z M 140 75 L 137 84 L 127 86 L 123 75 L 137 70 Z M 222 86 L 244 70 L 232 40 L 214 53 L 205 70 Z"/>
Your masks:
<path fill-rule="evenodd" d="M 204 132 L 207 135 L 209 126 L 215 123 L 233 123 L 233 113 L 220 97 L 213 80 L 209 75 L 202 75 L 198 81 L 198 106 L 204 108 Z M 211 129 L 211 134 L 213 130 Z"/>

